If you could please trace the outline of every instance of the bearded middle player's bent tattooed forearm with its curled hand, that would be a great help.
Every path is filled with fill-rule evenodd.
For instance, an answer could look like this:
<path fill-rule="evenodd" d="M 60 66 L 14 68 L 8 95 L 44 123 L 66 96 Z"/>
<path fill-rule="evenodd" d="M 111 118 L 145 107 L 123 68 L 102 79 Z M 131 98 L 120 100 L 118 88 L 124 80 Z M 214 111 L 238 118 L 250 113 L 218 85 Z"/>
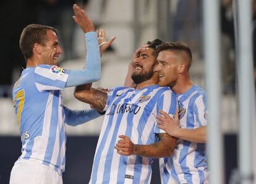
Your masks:
<path fill-rule="evenodd" d="M 151 157 L 161 158 L 170 157 L 176 146 L 176 138 L 169 136 L 167 133 L 160 133 L 160 141 L 153 144 L 134 144 L 128 136 L 120 135 L 119 140 L 115 146 L 117 153 L 130 156 L 132 154 Z"/>

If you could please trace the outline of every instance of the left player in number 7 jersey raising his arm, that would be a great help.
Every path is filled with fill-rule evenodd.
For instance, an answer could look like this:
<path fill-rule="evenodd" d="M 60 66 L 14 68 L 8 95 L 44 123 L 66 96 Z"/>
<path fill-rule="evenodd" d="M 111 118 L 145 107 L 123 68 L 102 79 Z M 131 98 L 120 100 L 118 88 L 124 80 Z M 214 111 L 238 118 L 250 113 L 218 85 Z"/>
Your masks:
<path fill-rule="evenodd" d="M 20 36 L 27 68 L 14 85 L 13 99 L 22 155 L 12 168 L 11 184 L 62 183 L 65 123 L 75 126 L 99 116 L 95 110 L 73 111 L 62 104 L 64 88 L 95 82 L 101 76 L 100 49 L 93 22 L 76 4 L 73 9 L 73 18 L 84 31 L 87 42 L 85 69 L 65 70 L 57 66 L 62 49 L 54 28 L 32 24 Z"/>

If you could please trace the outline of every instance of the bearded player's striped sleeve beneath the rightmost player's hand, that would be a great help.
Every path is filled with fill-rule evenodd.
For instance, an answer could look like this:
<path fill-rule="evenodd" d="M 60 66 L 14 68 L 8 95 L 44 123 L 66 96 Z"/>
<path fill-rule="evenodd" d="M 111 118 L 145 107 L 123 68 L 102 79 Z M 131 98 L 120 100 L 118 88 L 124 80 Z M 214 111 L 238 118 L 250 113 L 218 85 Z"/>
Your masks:
<path fill-rule="evenodd" d="M 177 102 L 176 94 L 173 93 L 173 91 L 171 90 L 164 91 L 164 93 L 161 94 L 156 104 L 157 115 L 161 115 L 159 111 L 164 111 L 164 112 L 167 112 L 171 117 L 174 117 L 176 110 L 178 111 L 178 102 Z M 160 128 L 158 128 L 157 125 L 155 125 L 154 132 L 166 133 L 164 130 L 161 130 Z"/>

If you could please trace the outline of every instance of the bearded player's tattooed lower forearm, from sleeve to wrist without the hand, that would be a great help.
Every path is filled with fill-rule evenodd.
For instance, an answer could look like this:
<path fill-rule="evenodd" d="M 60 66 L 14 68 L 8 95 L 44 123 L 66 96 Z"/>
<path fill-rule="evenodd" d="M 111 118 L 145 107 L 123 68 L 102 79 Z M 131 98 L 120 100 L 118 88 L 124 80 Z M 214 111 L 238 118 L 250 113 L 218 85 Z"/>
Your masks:
<path fill-rule="evenodd" d="M 167 133 L 160 133 L 160 141 L 149 145 L 135 145 L 135 154 L 144 157 L 160 158 L 173 154 L 176 146 L 176 138 Z"/>

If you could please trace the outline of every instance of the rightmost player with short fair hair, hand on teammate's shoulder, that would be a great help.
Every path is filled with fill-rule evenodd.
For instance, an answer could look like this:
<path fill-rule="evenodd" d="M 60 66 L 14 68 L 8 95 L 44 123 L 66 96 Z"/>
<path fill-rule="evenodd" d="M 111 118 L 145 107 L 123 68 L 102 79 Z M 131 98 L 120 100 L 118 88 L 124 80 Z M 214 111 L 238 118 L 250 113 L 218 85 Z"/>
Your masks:
<path fill-rule="evenodd" d="M 158 46 L 157 61 L 159 85 L 169 86 L 179 102 L 179 114 L 174 119 L 164 111 L 157 115 L 158 127 L 178 138 L 173 155 L 160 159 L 161 183 L 207 183 L 207 98 L 205 91 L 190 80 L 191 51 L 182 43 L 163 43 Z M 129 71 L 133 67 L 130 65 Z M 132 86 L 130 72 L 125 85 Z M 134 143 L 120 146 L 128 151 L 119 154 L 133 153 Z"/>

